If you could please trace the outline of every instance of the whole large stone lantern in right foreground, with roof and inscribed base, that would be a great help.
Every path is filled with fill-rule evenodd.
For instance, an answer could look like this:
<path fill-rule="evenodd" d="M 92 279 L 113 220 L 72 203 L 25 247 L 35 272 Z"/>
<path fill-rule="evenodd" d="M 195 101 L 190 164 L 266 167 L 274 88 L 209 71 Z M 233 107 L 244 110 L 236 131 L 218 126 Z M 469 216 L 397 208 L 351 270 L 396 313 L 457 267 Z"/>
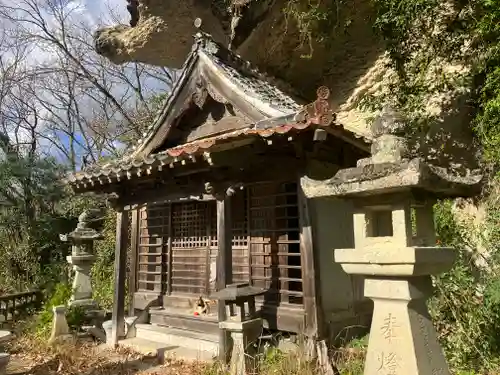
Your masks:
<path fill-rule="evenodd" d="M 456 252 L 436 246 L 433 204 L 439 197 L 478 192 L 482 176 L 451 178 L 409 158 L 400 118 L 385 110 L 372 127 L 372 157 L 327 181 L 303 179 L 308 197 L 354 204 L 354 248 L 335 250 L 335 262 L 363 275 L 374 311 L 365 375 L 450 374 L 427 310 L 431 275 L 451 268 Z"/>

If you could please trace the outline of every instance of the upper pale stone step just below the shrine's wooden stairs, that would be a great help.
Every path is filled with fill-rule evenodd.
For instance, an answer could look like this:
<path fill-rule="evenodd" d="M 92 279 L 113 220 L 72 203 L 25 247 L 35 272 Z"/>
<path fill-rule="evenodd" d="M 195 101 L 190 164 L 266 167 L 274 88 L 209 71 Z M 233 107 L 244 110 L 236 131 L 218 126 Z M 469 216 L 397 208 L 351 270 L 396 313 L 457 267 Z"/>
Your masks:
<path fill-rule="evenodd" d="M 137 324 L 136 338 L 160 342 L 165 345 L 194 349 L 201 356 L 216 356 L 219 349 L 218 335 L 193 332 L 153 324 Z"/>

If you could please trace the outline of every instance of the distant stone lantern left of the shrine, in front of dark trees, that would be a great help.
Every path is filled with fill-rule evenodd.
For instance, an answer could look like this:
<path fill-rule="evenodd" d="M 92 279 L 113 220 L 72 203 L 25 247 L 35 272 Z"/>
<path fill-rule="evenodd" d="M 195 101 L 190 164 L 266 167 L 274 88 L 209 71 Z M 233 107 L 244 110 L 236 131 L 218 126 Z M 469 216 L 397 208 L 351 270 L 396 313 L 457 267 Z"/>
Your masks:
<path fill-rule="evenodd" d="M 78 225 L 73 232 L 60 235 L 61 241 L 71 243 L 71 256 L 66 258 L 75 272 L 70 306 L 83 308 L 96 307 L 92 299 L 90 270 L 96 260 L 94 241 L 103 238 L 101 233 L 88 227 L 88 220 L 89 213 L 85 211 L 78 217 Z"/>

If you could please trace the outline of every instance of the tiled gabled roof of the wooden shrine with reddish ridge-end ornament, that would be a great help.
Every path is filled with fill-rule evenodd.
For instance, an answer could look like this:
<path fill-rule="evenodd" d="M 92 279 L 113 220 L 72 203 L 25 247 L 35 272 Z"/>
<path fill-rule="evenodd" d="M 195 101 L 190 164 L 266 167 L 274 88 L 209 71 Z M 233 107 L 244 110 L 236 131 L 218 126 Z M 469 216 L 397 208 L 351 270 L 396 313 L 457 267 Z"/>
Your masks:
<path fill-rule="evenodd" d="M 335 122 L 328 103 L 328 89 L 318 89 L 315 102 L 301 105 L 300 99 L 284 93 L 292 92 L 290 88 L 282 91 L 278 88 L 282 83 L 259 73 L 206 34 L 197 34 L 195 40 L 170 96 L 133 152 L 119 160 L 71 174 L 66 181 L 73 188 L 94 190 L 184 165 L 200 157 L 210 163 L 213 152 L 239 147 L 257 138 L 290 137 L 312 127 L 322 127 L 367 150 L 370 139 Z M 157 151 L 168 139 L 176 120 L 193 103 L 201 108 L 208 95 L 238 108 L 250 120 L 248 125 Z"/>

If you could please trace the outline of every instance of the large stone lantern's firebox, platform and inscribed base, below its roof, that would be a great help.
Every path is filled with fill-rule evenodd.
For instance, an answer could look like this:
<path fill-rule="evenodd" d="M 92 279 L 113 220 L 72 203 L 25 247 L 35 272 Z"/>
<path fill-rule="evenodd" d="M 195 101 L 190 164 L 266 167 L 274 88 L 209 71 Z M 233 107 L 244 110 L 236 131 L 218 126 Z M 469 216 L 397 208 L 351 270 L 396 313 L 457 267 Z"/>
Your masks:
<path fill-rule="evenodd" d="M 335 251 L 346 273 L 365 275 L 364 295 L 374 302 L 365 375 L 450 373 L 426 300 L 430 275 L 450 269 L 456 253 L 431 246 L 429 220 L 432 205 L 411 194 L 360 198 L 355 248 Z"/>

